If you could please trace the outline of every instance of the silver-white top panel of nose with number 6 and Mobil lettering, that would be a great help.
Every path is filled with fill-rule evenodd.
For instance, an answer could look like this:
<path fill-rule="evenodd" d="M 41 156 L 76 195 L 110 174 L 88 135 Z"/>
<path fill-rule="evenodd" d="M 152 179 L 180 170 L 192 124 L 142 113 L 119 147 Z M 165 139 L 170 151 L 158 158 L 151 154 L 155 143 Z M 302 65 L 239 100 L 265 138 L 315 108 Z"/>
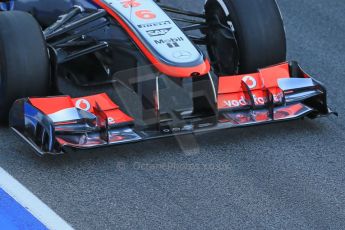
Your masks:
<path fill-rule="evenodd" d="M 152 55 L 172 66 L 193 67 L 204 62 L 175 22 L 153 0 L 104 0 L 133 30 Z"/>

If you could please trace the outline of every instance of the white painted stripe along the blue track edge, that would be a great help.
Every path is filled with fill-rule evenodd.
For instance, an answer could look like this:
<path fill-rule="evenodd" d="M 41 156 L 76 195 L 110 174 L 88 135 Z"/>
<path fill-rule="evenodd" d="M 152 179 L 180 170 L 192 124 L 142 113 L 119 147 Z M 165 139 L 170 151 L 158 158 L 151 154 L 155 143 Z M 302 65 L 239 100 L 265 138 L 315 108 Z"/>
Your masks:
<path fill-rule="evenodd" d="M 0 167 L 0 188 L 50 230 L 72 230 L 60 216 Z"/>

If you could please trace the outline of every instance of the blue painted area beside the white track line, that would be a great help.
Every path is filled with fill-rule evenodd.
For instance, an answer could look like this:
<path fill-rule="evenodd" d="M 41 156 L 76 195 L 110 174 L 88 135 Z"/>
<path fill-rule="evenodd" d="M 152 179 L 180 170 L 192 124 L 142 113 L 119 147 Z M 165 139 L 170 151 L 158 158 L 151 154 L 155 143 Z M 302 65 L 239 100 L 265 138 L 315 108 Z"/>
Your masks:
<path fill-rule="evenodd" d="M 28 210 L 0 188 L 1 230 L 46 230 Z"/>

